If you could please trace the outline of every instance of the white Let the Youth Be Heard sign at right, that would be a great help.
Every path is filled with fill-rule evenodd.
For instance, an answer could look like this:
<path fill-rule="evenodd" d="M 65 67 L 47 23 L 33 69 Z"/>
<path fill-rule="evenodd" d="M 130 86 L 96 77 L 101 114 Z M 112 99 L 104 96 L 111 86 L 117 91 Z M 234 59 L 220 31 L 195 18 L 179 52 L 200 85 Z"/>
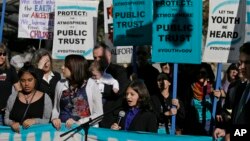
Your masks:
<path fill-rule="evenodd" d="M 239 47 L 245 39 L 245 23 L 245 0 L 210 0 L 203 62 L 238 62 Z"/>

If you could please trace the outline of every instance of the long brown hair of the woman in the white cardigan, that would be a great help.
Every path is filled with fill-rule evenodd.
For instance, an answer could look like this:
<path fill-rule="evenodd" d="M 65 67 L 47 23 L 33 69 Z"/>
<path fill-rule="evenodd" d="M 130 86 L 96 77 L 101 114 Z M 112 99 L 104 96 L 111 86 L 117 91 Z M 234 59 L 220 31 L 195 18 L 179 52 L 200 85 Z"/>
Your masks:
<path fill-rule="evenodd" d="M 88 61 L 81 55 L 66 56 L 64 66 L 71 72 L 69 82 L 77 84 L 78 88 L 89 78 Z"/>

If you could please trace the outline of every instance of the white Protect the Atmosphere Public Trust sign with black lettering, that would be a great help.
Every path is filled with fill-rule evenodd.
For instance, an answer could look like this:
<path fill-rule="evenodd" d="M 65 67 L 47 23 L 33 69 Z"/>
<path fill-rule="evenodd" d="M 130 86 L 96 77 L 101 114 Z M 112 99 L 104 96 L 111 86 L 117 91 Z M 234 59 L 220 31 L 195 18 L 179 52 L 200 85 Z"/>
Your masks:
<path fill-rule="evenodd" d="M 99 1 L 60 0 L 55 3 L 52 57 L 78 54 L 93 59 Z"/>

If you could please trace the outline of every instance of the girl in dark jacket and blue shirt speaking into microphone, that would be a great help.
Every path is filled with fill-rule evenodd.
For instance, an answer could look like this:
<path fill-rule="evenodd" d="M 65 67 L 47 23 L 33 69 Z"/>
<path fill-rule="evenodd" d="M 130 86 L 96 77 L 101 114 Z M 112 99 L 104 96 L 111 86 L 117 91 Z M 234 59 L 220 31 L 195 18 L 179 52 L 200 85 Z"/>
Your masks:
<path fill-rule="evenodd" d="M 157 132 L 158 123 L 155 113 L 152 112 L 148 90 L 141 80 L 132 81 L 126 90 L 125 118 L 121 124 L 114 123 L 111 129 L 127 131 Z"/>

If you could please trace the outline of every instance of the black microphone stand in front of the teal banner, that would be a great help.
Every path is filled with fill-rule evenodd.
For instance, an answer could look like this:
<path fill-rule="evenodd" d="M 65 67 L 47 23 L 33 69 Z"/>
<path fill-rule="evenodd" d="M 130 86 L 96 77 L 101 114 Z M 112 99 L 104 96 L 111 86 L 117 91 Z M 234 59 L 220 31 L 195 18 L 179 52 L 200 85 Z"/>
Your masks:
<path fill-rule="evenodd" d="M 81 124 L 81 125 L 79 125 L 79 126 L 73 128 L 73 129 L 71 129 L 71 130 L 69 130 L 69 131 L 67 131 L 67 132 L 65 132 L 65 133 L 63 133 L 63 134 L 61 134 L 60 137 L 63 137 L 63 136 L 65 136 L 65 135 L 67 135 L 67 134 L 69 134 L 69 133 L 75 131 L 75 132 L 74 132 L 72 135 L 70 135 L 68 138 L 73 137 L 76 133 L 80 132 L 81 129 L 83 129 L 83 130 L 84 130 L 84 133 L 85 133 L 85 141 L 87 141 L 87 139 L 88 139 L 88 131 L 89 131 L 90 126 L 92 126 L 92 125 L 96 124 L 97 122 L 101 121 L 102 118 L 103 118 L 105 115 L 107 115 L 107 114 L 113 112 L 114 110 L 116 110 L 116 109 L 118 109 L 118 108 L 120 108 L 120 107 L 121 107 L 121 106 L 117 106 L 117 107 L 111 109 L 110 111 L 108 111 L 108 112 L 106 112 L 106 113 L 104 113 L 104 114 L 102 114 L 102 115 L 100 115 L 100 116 L 98 116 L 98 117 L 96 117 L 96 118 L 94 118 L 94 119 L 91 119 L 91 118 L 90 118 L 89 121 L 87 121 L 87 122 L 85 122 L 85 123 L 83 123 L 83 124 Z M 67 138 L 67 139 L 68 139 L 68 138 Z"/>

